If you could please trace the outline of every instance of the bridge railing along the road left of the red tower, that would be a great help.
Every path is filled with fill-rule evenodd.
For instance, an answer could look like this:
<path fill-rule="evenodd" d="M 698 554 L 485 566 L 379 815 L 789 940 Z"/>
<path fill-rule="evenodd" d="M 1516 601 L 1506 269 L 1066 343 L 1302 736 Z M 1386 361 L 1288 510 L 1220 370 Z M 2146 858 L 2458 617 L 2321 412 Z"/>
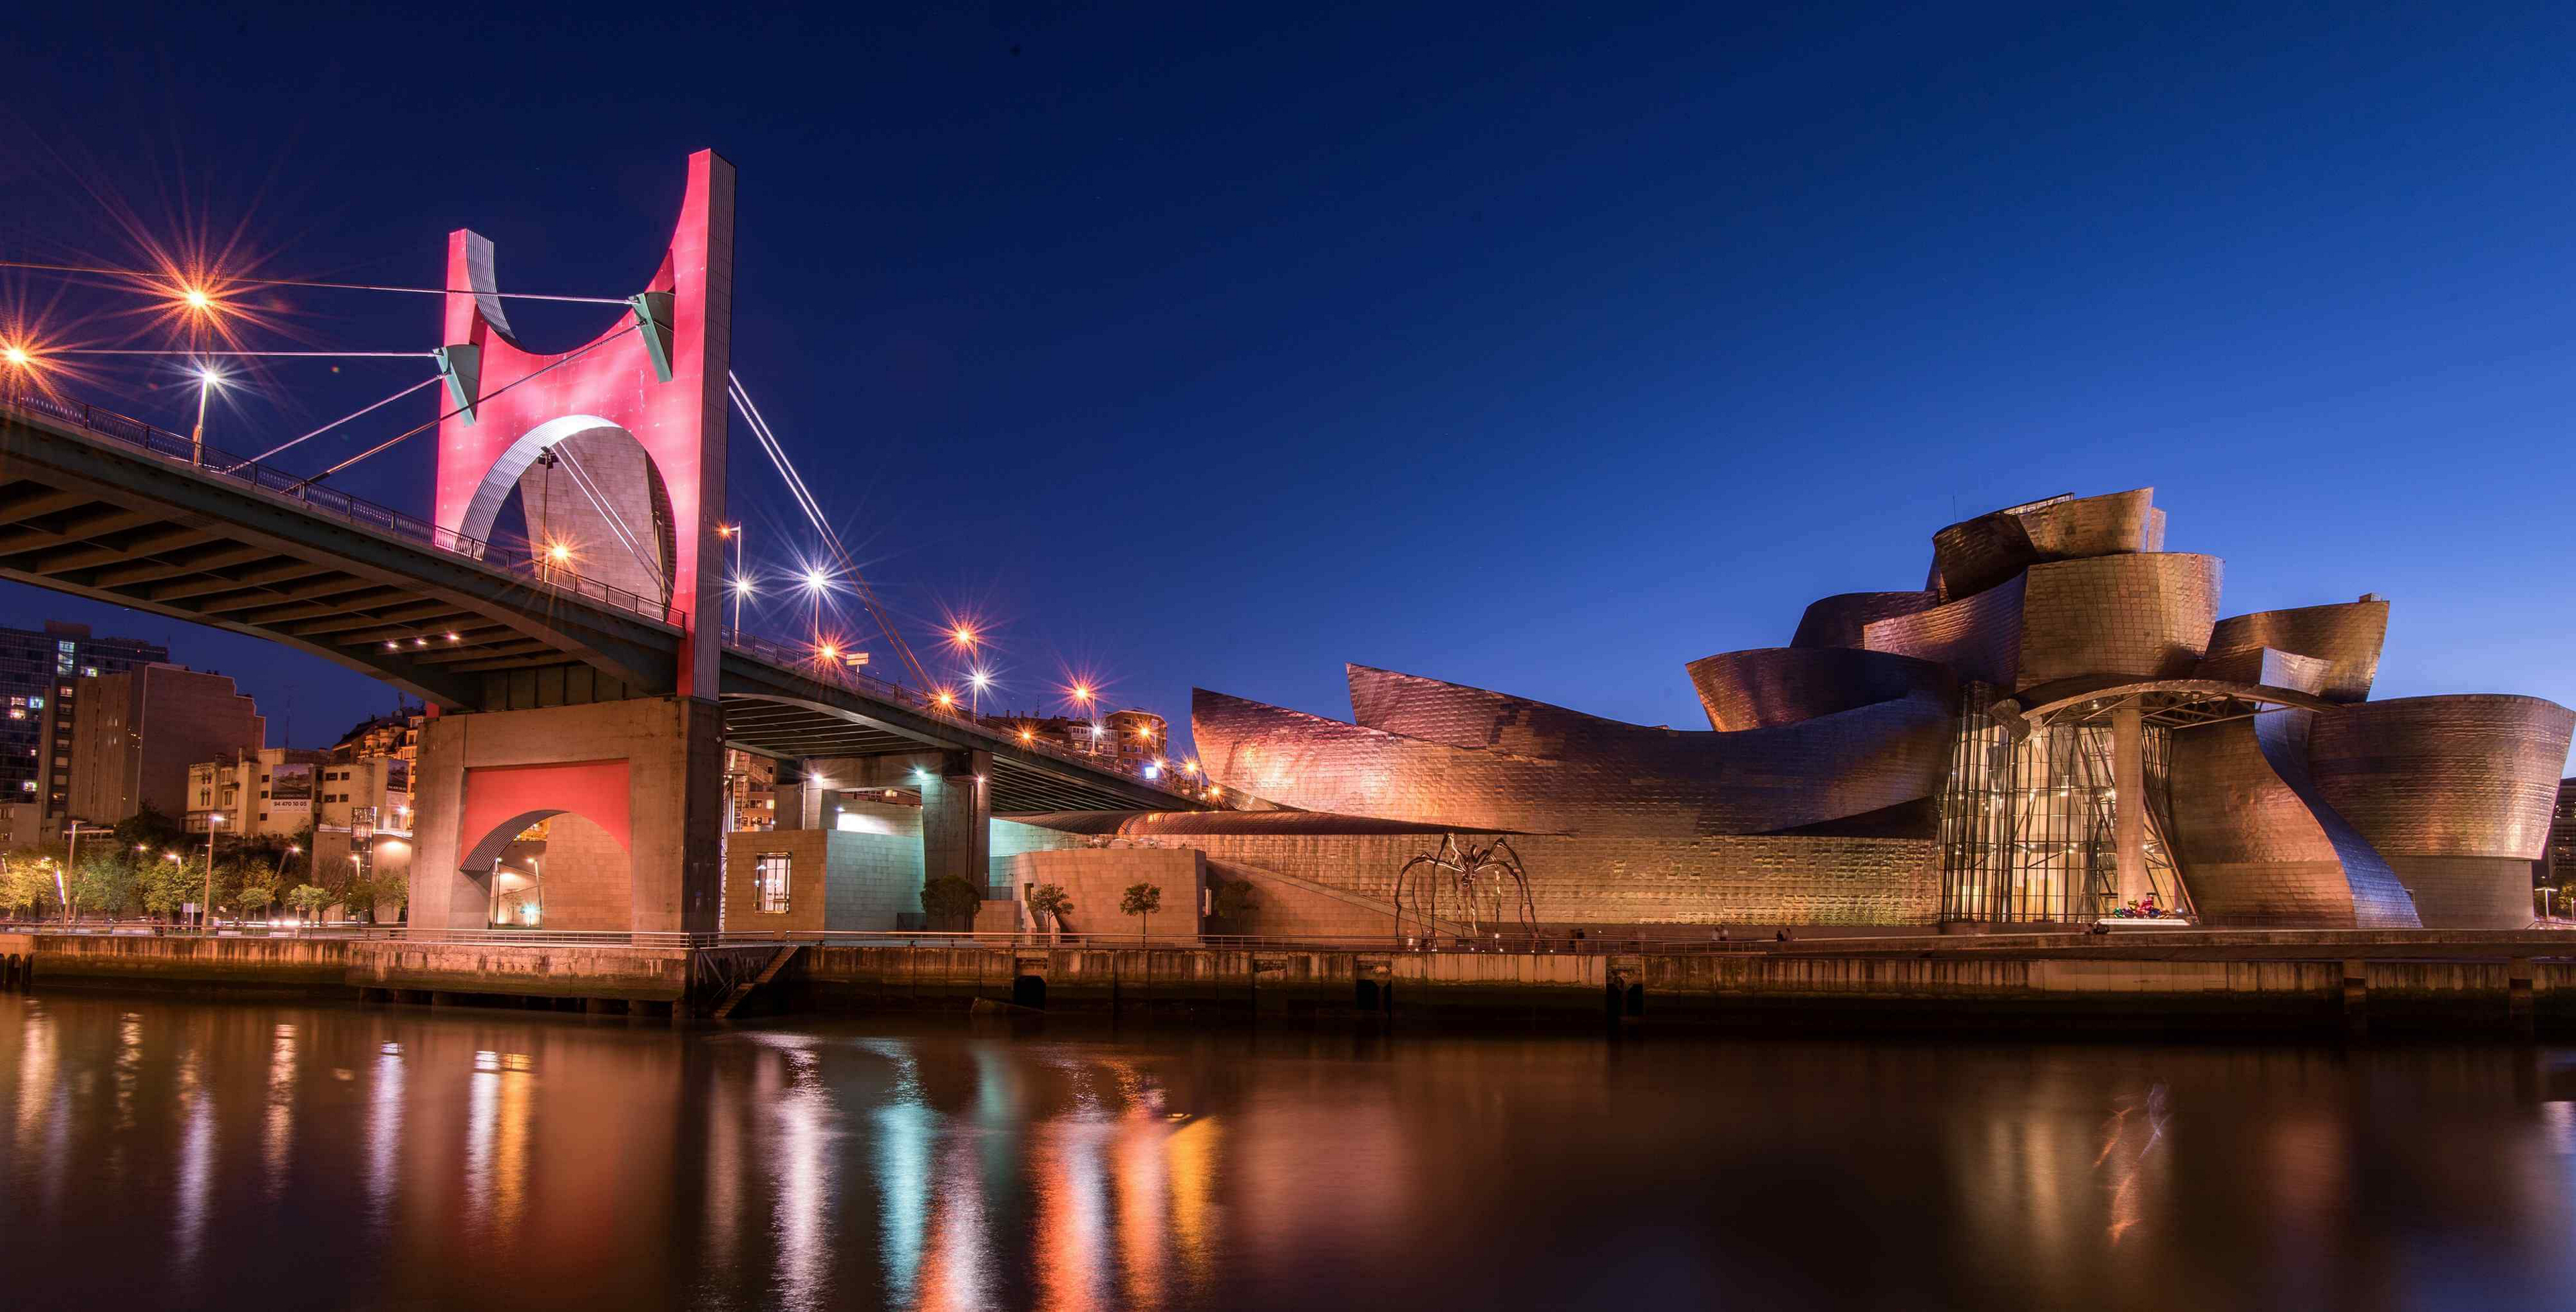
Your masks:
<path fill-rule="evenodd" d="M 13 405 L 13 407 L 28 410 L 33 415 L 46 415 L 46 418 L 77 425 L 77 428 L 82 428 L 90 436 L 108 438 L 108 441 L 116 441 L 116 443 L 124 443 L 124 446 L 134 446 L 134 449 L 139 449 L 139 451 L 144 451 L 149 456 L 170 461 L 170 464 L 185 464 L 185 467 L 191 467 L 191 469 L 196 469 L 198 474 L 206 474 L 206 477 L 216 477 L 216 479 L 229 479 L 229 482 L 242 482 L 242 485 L 258 487 L 260 492 L 268 492 L 273 497 L 296 503 L 296 505 L 301 505 L 304 510 L 309 510 L 314 516 L 327 516 L 327 518 L 337 518 L 337 521 L 348 521 L 348 523 L 355 523 L 355 526 L 363 526 L 363 528 L 374 528 L 379 534 L 389 534 L 389 536 L 397 536 L 397 539 L 410 539 L 410 541 L 417 541 L 417 544 L 438 549 L 438 552 L 466 557 L 466 559 L 471 559 L 471 562 L 477 562 L 477 564 L 482 564 L 487 570 L 500 570 L 502 575 L 526 580 L 526 583 L 531 583 L 536 588 L 544 588 L 549 593 L 556 593 L 556 595 L 572 595 L 572 598 L 580 598 L 580 601 L 587 601 L 587 603 L 595 603 L 595 606 L 608 606 L 613 611 L 629 611 L 629 613 L 639 613 L 639 616 L 647 616 L 647 619 L 659 619 L 662 624 L 672 624 L 675 621 L 672 619 L 672 606 L 665 603 L 662 598 L 647 598 L 647 595 L 631 593 L 626 588 L 616 588 L 616 585 L 608 585 L 608 583 L 600 583 L 600 580 L 582 577 L 582 575 L 577 575 L 572 570 L 564 570 L 559 564 L 549 564 L 549 562 L 536 559 L 536 557 L 520 557 L 518 552 L 510 552 L 507 546 L 495 546 L 495 544 L 489 544 L 484 539 L 474 539 L 474 536 L 466 536 L 466 534 L 456 534 L 451 528 L 440 528 L 440 526 L 428 523 L 422 518 L 404 516 L 402 510 L 394 510 L 392 505 L 379 505 L 379 503 L 371 503 L 366 497 L 353 497 L 348 492 L 340 492 L 335 487 L 322 487 L 322 485 L 312 482 L 304 474 L 291 474 L 286 469 L 276 469 L 276 467 L 268 467 L 268 464 L 260 464 L 260 461 L 252 461 L 252 459 L 245 459 L 245 456 L 234 456 L 234 454 L 219 451 L 214 446 L 198 449 L 196 441 L 183 438 L 183 436 L 170 433 L 170 430 L 162 430 L 162 428 L 152 428 L 149 423 L 137 420 L 131 415 L 118 415 L 113 410 L 100 410 L 100 407 L 88 405 L 88 402 L 75 402 L 75 400 L 62 400 L 62 397 L 46 397 L 41 392 L 0 394 L 0 405 Z"/>

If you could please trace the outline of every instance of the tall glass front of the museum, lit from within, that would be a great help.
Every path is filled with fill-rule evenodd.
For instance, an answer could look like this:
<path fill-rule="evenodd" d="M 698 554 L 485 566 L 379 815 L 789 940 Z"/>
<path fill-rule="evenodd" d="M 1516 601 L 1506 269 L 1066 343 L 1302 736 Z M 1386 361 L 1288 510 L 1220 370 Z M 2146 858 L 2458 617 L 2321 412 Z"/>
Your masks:
<path fill-rule="evenodd" d="M 1996 691 L 1968 683 L 1940 796 L 1942 920 L 2084 923 L 2120 902 L 2112 724 L 2027 727 L 1991 711 Z M 2172 732 L 2143 724 L 2146 874 L 2156 902 L 2182 910 L 2166 835 Z"/>

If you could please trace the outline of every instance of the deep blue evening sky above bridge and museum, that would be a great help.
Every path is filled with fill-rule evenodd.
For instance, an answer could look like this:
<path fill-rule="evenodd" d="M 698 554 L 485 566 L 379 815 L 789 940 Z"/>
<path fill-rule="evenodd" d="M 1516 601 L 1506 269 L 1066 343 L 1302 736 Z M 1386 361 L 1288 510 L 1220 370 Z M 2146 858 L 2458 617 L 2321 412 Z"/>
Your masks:
<path fill-rule="evenodd" d="M 626 294 L 683 157 L 729 155 L 737 369 L 896 606 L 999 626 L 1020 704 L 1090 668 L 1175 724 L 1193 683 L 1347 714 L 1360 660 L 1698 727 L 1685 660 L 1922 585 L 1947 521 L 2136 485 L 2226 613 L 2391 595 L 2380 696 L 2576 704 L 2563 8 L 88 13 L 10 18 L 5 258 L 131 258 L 131 211 L 435 284 L 477 227 L 510 289 Z M 430 299 L 286 307 L 438 335 Z M 278 369 L 214 438 L 415 376 Z M 183 428 L 142 379 L 98 392 Z M 425 510 L 428 461 L 353 490 Z M 113 616 L 0 585 L 49 613 Z M 299 745 L 386 704 L 111 626 L 291 696 Z"/>

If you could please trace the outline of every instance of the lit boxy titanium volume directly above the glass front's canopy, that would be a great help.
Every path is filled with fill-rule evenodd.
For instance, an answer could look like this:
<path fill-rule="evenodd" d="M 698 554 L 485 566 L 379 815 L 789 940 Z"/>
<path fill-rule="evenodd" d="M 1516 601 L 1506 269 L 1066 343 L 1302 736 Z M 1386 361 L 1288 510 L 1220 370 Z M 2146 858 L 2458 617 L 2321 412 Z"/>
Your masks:
<path fill-rule="evenodd" d="M 2210 647 L 2218 577 L 2218 557 L 2187 552 L 2032 564 L 2022 575 L 2020 665 L 2009 686 L 2190 675 Z"/>

